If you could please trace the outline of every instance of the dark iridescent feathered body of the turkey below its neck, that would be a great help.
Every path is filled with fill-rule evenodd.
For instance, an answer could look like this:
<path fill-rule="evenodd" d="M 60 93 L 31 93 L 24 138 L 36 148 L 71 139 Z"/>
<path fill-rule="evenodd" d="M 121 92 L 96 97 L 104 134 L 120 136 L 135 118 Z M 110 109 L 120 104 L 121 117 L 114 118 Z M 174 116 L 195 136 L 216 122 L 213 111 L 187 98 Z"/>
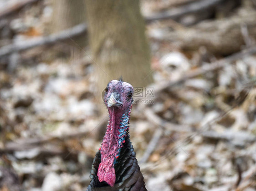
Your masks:
<path fill-rule="evenodd" d="M 98 180 L 97 170 L 100 162 L 101 154 L 98 151 L 92 163 L 90 174 L 92 181 L 87 191 L 147 191 L 129 135 L 126 137 L 120 156 L 114 165 L 116 183 L 113 187 Z"/>

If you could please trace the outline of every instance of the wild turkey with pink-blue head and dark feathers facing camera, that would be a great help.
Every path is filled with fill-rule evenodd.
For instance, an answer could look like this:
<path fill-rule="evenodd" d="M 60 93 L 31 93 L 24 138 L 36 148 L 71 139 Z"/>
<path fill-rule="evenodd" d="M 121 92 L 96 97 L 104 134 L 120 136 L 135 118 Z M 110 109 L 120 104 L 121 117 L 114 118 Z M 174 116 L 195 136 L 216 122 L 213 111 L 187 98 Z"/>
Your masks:
<path fill-rule="evenodd" d="M 112 80 L 105 92 L 109 121 L 92 163 L 87 191 L 147 191 L 128 134 L 133 86 Z"/>

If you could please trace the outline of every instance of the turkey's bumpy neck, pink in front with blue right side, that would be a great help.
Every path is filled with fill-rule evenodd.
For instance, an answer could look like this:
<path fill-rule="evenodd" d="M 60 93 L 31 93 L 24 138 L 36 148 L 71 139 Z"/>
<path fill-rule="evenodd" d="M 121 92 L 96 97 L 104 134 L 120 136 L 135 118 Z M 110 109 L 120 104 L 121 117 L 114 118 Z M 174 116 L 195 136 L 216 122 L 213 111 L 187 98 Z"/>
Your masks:
<path fill-rule="evenodd" d="M 108 108 L 109 121 L 100 150 L 101 163 L 98 168 L 98 178 L 100 182 L 106 181 L 110 186 L 114 186 L 116 180 L 114 164 L 117 163 L 127 136 L 131 108 L 126 111 L 121 108 Z"/>

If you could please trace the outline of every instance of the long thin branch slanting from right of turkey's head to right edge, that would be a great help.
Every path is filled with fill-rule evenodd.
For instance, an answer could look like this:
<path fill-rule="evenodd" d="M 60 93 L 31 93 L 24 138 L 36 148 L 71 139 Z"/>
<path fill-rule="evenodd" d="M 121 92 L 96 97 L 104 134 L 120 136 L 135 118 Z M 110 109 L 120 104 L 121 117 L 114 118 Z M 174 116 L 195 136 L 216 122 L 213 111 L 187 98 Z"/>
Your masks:
<path fill-rule="evenodd" d="M 207 72 L 211 72 L 214 71 L 216 69 L 221 69 L 223 68 L 226 64 L 230 63 L 230 62 L 234 62 L 237 59 L 241 59 L 244 58 L 250 54 L 256 54 L 256 46 L 249 48 L 249 49 L 245 49 L 242 50 L 239 53 L 236 54 L 232 54 L 231 56 L 228 56 L 224 59 L 220 59 L 214 63 L 211 64 L 205 64 L 202 67 L 198 68 L 198 69 L 194 69 L 192 72 L 188 72 L 187 74 L 185 74 L 182 78 L 179 78 L 175 81 L 171 81 L 171 82 L 167 82 L 167 83 L 163 83 L 163 84 L 159 84 L 158 87 L 155 88 L 155 98 L 157 98 L 157 95 L 160 95 L 159 92 L 167 90 L 171 87 L 174 87 L 176 85 L 178 85 L 179 83 L 182 83 L 190 78 L 195 78 L 199 75 L 205 74 Z"/>

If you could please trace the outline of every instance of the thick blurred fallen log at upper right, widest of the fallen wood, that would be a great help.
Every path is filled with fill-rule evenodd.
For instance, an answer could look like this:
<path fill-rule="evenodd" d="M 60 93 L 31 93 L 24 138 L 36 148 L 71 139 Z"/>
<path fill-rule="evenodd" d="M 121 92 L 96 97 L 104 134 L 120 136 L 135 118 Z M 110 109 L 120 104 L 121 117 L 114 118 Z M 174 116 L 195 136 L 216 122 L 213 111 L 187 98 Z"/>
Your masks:
<path fill-rule="evenodd" d="M 148 34 L 150 38 L 160 42 L 179 44 L 179 49 L 186 51 L 197 51 L 200 47 L 205 47 L 211 54 L 230 55 L 240 51 L 241 47 L 246 45 L 244 34 L 241 32 L 241 23 L 246 26 L 247 35 L 251 39 L 250 44 L 255 44 L 254 18 L 256 18 L 256 12 L 249 9 L 237 11 L 236 15 L 220 20 L 203 21 L 193 27 L 164 32 L 161 35 Z"/>

